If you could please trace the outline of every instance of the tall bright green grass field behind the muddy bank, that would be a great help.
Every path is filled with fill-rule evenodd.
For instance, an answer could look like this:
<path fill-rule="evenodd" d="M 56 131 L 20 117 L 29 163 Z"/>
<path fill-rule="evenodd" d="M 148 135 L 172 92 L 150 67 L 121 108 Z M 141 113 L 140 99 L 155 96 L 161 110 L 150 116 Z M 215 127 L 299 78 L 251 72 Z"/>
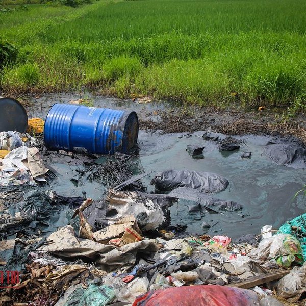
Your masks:
<path fill-rule="evenodd" d="M 304 0 L 105 0 L 64 12 L 36 8 L 6 16 L 9 27 L 0 19 L 2 35 L 20 49 L 2 71 L 3 90 L 88 85 L 119 97 L 199 105 L 231 102 L 235 93 L 243 105 L 304 109 Z M 20 77 L 27 65 L 39 70 L 37 82 Z"/>

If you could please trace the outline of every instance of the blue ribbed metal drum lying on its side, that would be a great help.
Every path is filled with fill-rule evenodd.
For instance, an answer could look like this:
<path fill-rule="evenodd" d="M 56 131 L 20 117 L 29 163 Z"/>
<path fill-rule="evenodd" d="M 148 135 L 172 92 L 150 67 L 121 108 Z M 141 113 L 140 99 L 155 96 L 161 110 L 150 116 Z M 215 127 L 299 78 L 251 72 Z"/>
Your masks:
<path fill-rule="evenodd" d="M 44 124 L 44 141 L 49 149 L 126 153 L 137 138 L 135 112 L 57 103 L 50 108 Z"/>

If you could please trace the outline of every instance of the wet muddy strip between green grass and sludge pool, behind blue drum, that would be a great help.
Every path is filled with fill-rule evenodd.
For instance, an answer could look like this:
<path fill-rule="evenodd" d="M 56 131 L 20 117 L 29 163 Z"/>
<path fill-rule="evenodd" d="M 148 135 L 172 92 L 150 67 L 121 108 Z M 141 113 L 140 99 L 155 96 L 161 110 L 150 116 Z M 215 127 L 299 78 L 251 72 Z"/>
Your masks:
<path fill-rule="evenodd" d="M 82 100 L 86 106 L 135 110 L 140 129 L 164 133 L 212 130 L 227 135 L 294 136 L 306 143 L 306 118 L 303 114 L 291 118 L 286 110 L 257 108 L 246 110 L 233 105 L 225 109 L 215 107 L 182 106 L 180 104 L 151 101 L 151 99 L 115 99 L 90 93 L 55 93 L 43 96 L 25 96 L 21 102 L 29 116 L 45 117 L 53 104 Z M 149 102 L 147 102 L 149 101 Z M 284 115 L 285 114 L 285 115 Z"/>

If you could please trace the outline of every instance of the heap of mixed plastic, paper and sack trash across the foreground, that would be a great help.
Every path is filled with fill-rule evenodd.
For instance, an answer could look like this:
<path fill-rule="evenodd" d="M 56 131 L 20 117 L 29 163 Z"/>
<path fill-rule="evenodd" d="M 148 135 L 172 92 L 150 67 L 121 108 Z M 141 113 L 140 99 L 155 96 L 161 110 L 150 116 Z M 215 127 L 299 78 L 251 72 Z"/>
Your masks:
<path fill-rule="evenodd" d="M 33 124 L 41 127 L 37 119 Z M 55 152 L 86 159 L 79 171 L 106 186 L 99 200 L 41 190 L 57 173 L 44 162 L 48 154 L 33 131 L 0 133 L 0 305 L 305 304 L 306 214 L 236 241 L 188 233 L 171 226 L 169 208 L 186 199 L 196 203 L 188 211 L 199 215 L 240 210 L 240 203 L 212 195 L 228 180 L 166 170 L 154 174 L 155 192 L 147 193 L 141 179 L 150 173 L 126 154 L 99 164 L 92 154 Z M 212 132 L 203 138 L 218 141 L 222 151 L 240 143 Z M 192 156 L 202 150 L 187 148 Z"/>

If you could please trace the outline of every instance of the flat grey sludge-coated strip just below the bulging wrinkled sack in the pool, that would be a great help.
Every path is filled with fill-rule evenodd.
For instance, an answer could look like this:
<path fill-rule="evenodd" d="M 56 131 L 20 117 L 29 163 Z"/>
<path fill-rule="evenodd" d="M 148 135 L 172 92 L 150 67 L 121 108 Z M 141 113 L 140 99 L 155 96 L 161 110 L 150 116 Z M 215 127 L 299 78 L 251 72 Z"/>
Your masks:
<path fill-rule="evenodd" d="M 217 209 L 227 210 L 230 212 L 242 209 L 241 204 L 238 204 L 233 201 L 220 200 L 218 198 L 212 197 L 210 194 L 207 194 L 205 192 L 201 192 L 187 187 L 176 188 L 172 190 L 169 195 L 180 199 L 200 203 L 201 205 L 215 206 Z"/>

